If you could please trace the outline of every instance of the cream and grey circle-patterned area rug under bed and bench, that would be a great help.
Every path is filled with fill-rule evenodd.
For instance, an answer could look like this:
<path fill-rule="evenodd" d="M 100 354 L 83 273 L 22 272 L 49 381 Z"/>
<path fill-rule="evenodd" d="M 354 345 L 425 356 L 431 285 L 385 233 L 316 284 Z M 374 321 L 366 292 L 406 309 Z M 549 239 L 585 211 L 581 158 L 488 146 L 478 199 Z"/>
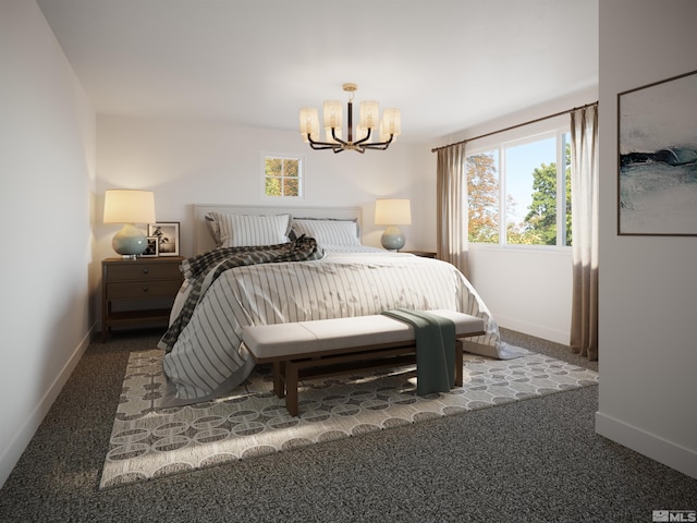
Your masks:
<path fill-rule="evenodd" d="M 133 353 L 105 460 L 100 488 L 235 462 L 433 417 L 587 387 L 598 374 L 529 353 L 489 360 L 465 353 L 464 387 L 416 396 L 413 367 L 305 380 L 299 417 L 257 367 L 229 398 L 159 409 L 162 351 Z"/>

